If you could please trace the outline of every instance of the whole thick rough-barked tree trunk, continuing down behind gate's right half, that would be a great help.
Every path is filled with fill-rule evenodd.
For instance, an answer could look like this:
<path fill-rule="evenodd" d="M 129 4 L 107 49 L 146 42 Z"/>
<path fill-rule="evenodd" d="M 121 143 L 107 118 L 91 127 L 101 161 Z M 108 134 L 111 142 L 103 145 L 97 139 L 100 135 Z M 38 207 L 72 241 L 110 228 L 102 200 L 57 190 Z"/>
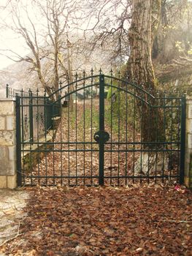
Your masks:
<path fill-rule="evenodd" d="M 153 96 L 156 95 L 156 80 L 151 53 L 155 33 L 154 27 L 158 25 L 158 20 L 155 19 L 159 16 L 160 10 L 161 4 L 159 0 L 133 0 L 133 14 L 128 35 L 130 43 L 128 69 L 130 69 L 131 80 L 141 86 L 142 89 L 145 89 L 145 91 L 150 91 L 150 94 L 153 94 Z M 139 89 L 137 94 L 144 99 L 144 101 L 137 100 L 141 122 L 141 140 L 142 143 L 153 142 L 150 145 L 144 144 L 143 149 L 151 149 L 155 147 L 154 142 L 164 141 L 164 129 L 162 129 L 163 116 L 159 109 L 151 108 L 145 104 L 145 101 L 147 101 L 150 102 L 150 105 L 157 105 L 158 102 L 153 97 L 147 96 L 147 94 L 142 93 Z M 144 173 L 149 172 L 149 169 L 152 170 L 155 161 L 154 154 L 150 153 L 150 157 L 149 153 L 146 153 L 147 156 L 141 154 L 137 166 L 138 170 L 140 170 L 141 165 L 146 165 L 142 169 Z M 146 159 L 148 159 L 147 162 Z M 141 163 L 141 161 L 146 163 Z"/>

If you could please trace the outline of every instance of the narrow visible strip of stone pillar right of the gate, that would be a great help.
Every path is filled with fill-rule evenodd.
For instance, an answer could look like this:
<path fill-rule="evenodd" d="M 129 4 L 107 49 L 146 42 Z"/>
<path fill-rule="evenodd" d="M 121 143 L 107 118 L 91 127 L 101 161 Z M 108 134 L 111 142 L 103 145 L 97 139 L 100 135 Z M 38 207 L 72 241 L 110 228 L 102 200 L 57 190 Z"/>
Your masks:
<path fill-rule="evenodd" d="M 185 185 L 192 188 L 192 97 L 186 99 Z"/>

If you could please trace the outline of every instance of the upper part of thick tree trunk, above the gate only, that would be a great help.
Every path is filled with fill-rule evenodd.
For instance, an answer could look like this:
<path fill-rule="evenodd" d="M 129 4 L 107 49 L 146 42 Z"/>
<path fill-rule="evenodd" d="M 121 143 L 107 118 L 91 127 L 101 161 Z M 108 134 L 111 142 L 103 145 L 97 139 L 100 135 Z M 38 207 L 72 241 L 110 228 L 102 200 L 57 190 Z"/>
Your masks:
<path fill-rule="evenodd" d="M 151 60 L 152 49 L 152 0 L 134 0 L 130 43 L 131 78 L 145 89 L 155 88 L 155 75 Z"/>

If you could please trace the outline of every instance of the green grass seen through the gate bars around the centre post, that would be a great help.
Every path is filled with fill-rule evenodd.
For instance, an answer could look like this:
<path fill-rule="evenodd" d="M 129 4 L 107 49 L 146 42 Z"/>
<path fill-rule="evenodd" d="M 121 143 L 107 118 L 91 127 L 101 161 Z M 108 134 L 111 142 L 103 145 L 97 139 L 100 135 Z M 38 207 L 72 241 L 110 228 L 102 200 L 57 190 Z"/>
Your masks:
<path fill-rule="evenodd" d="M 126 94 L 120 93 L 117 94 L 115 102 L 112 102 L 111 99 L 105 99 L 104 107 L 104 122 L 105 129 L 107 132 L 111 132 L 113 137 L 120 135 L 120 140 L 126 139 L 126 127 L 133 127 L 134 124 L 134 113 L 133 113 L 133 102 L 128 103 L 128 113 L 126 113 Z M 84 139 L 84 129 L 86 135 L 91 135 L 92 132 L 99 131 L 99 108 L 95 105 L 86 106 L 85 112 L 83 110 L 83 105 L 77 106 L 77 133 L 80 140 Z M 70 129 L 76 129 L 76 109 L 70 112 Z M 126 124 L 127 121 L 127 124 Z M 127 134 L 132 133 L 127 131 Z"/>

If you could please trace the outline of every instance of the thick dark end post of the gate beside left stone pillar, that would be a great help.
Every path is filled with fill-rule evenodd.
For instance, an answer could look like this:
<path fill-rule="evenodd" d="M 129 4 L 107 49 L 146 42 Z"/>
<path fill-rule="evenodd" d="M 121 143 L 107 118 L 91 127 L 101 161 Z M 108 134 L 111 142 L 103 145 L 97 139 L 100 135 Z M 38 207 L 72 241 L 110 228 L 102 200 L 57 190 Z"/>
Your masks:
<path fill-rule="evenodd" d="M 16 149 L 17 149 L 17 183 L 18 187 L 22 185 L 21 174 L 21 137 L 20 137 L 20 97 L 16 95 Z"/>

